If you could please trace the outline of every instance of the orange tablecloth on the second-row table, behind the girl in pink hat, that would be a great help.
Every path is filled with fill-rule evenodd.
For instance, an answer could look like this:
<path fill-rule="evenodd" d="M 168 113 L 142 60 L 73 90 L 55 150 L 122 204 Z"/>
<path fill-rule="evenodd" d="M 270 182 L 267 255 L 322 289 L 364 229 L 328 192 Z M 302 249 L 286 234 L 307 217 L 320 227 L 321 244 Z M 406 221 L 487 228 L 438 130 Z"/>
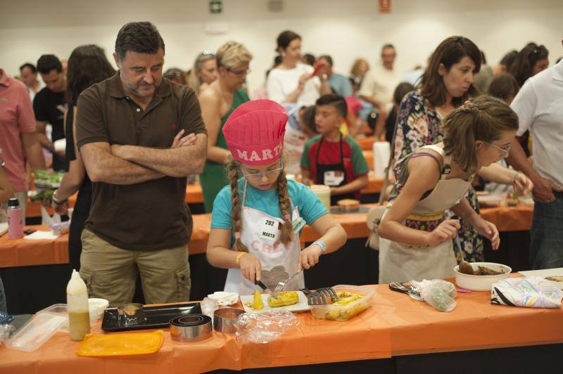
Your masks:
<path fill-rule="evenodd" d="M 373 207 L 376 204 L 366 204 Z M 533 207 L 519 205 L 515 208 L 495 207 L 481 209 L 481 216 L 497 225 L 499 231 L 526 231 L 531 225 Z M 367 238 L 369 230 L 365 224 L 367 213 L 334 214 L 342 225 L 348 239 Z M 194 214 L 194 231 L 188 245 L 189 254 L 201 254 L 207 250 L 211 226 L 211 214 Z M 46 230 L 46 228 L 43 228 Z M 301 233 L 301 243 L 319 238 L 310 226 Z M 56 240 L 8 240 L 0 237 L 0 267 L 32 266 L 68 263 L 68 236 Z"/>

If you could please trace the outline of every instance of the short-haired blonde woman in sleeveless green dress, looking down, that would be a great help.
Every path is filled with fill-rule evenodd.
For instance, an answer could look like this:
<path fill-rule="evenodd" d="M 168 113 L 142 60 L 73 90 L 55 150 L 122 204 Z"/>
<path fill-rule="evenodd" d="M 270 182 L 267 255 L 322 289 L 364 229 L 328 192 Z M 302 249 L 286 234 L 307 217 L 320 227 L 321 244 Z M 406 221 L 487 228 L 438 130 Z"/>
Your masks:
<path fill-rule="evenodd" d="M 233 110 L 250 101 L 241 87 L 250 72 L 248 67 L 252 57 L 248 49 L 236 41 L 227 41 L 220 46 L 217 50 L 218 77 L 198 96 L 208 136 L 207 160 L 200 176 L 206 213 L 213 209 L 217 193 L 229 184 L 224 173 L 229 150 L 221 130 Z"/>

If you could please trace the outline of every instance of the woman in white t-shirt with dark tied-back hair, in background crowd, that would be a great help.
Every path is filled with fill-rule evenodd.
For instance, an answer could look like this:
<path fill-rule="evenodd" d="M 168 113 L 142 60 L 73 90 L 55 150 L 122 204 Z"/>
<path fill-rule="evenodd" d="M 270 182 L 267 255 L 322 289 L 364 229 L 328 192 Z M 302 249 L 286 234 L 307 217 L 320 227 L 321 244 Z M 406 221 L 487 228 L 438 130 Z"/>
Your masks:
<path fill-rule="evenodd" d="M 286 30 L 277 37 L 277 53 L 281 64 L 268 75 L 268 98 L 277 103 L 315 105 L 320 96 L 331 93 L 324 69 L 301 63 L 301 37 Z M 315 76 L 312 73 L 315 72 Z"/>

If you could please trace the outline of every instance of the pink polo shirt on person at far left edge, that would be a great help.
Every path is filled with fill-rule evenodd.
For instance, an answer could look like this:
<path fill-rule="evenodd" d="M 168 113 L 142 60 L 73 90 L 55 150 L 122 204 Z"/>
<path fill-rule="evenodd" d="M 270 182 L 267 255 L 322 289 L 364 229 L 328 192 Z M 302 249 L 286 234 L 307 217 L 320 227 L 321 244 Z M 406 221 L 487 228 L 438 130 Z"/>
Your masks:
<path fill-rule="evenodd" d="M 24 84 L 0 69 L 0 148 L 6 174 L 16 192 L 27 191 L 22 133 L 35 131 L 30 94 Z"/>

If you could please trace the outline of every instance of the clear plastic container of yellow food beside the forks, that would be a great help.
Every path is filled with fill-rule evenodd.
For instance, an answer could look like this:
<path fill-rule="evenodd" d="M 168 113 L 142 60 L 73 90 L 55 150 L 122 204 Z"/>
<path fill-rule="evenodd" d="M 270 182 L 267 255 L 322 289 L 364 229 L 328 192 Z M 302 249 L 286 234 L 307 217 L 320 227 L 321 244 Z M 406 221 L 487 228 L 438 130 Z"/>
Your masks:
<path fill-rule="evenodd" d="M 333 321 L 348 321 L 353 316 L 357 316 L 371 306 L 372 297 L 375 293 L 375 290 L 372 288 L 361 288 L 355 285 L 335 285 L 333 288 L 336 293 L 350 292 L 360 295 L 362 298 L 346 305 L 312 305 L 311 314 L 313 317 L 330 319 Z M 330 303 L 331 300 L 327 299 L 327 302 Z"/>

